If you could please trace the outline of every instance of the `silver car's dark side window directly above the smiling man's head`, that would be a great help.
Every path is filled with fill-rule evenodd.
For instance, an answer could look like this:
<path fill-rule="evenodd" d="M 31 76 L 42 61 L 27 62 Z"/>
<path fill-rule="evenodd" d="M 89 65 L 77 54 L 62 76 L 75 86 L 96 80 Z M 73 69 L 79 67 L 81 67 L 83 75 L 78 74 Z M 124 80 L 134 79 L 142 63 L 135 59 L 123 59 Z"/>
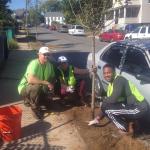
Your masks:
<path fill-rule="evenodd" d="M 113 64 L 115 67 L 119 67 L 120 60 L 123 54 L 123 47 L 119 45 L 113 45 L 102 55 L 102 60 Z"/>

